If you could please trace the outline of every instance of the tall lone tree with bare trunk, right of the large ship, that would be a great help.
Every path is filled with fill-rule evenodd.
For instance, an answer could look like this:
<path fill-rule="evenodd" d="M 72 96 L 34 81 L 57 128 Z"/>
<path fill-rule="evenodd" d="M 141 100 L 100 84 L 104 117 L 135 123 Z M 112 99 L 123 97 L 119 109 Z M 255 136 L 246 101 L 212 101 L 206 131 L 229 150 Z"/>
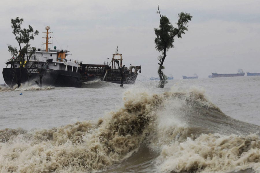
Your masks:
<path fill-rule="evenodd" d="M 158 74 L 160 77 L 160 83 L 159 88 L 164 88 L 164 85 L 166 84 L 167 76 L 163 73 L 164 69 L 164 60 L 166 57 L 166 52 L 174 47 L 174 37 L 177 36 L 178 38 L 181 38 L 181 34 L 185 34 L 184 31 L 188 31 L 188 25 L 187 23 L 192 19 L 192 16 L 190 13 L 183 13 L 181 12 L 178 14 L 179 20 L 176 23 L 177 28 L 174 28 L 172 24 L 170 23 L 170 20 L 166 16 L 162 16 L 159 10 L 158 5 L 158 12 L 160 15 L 160 25 L 159 29 L 155 28 L 155 48 L 159 52 L 162 53 L 161 56 L 159 56 L 157 59 L 159 60 L 159 68 L 158 68 Z"/>

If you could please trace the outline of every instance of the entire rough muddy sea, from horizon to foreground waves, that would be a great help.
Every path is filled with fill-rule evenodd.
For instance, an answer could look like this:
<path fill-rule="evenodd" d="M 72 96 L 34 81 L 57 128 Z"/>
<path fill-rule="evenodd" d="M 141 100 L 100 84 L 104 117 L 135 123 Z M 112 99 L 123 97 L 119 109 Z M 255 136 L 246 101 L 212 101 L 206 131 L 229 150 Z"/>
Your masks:
<path fill-rule="evenodd" d="M 0 87 L 0 172 L 260 172 L 260 76 Z"/>

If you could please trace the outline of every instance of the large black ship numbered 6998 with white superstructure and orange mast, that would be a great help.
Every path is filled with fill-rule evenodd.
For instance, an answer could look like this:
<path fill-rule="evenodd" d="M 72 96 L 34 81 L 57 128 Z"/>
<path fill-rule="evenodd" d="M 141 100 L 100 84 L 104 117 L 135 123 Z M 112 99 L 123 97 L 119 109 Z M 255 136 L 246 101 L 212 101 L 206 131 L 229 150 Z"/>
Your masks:
<path fill-rule="evenodd" d="M 130 66 L 129 69 L 122 66 L 122 54 L 113 54 L 110 64 L 83 64 L 82 61 L 70 59 L 71 55 L 68 50 L 58 50 L 56 46 L 49 48 L 50 27 L 45 27 L 46 48 L 38 48 L 32 52 L 32 56 L 22 62 L 18 61 L 19 57 L 12 57 L 5 62 L 6 68 L 3 68 L 3 78 L 5 83 L 13 87 L 18 81 L 21 83 L 31 82 L 39 86 L 66 86 L 81 87 L 84 82 L 93 80 L 102 80 L 107 82 L 120 83 L 120 69 L 116 61 L 120 61 L 120 67 L 123 68 L 125 84 L 134 84 L 141 72 L 141 66 Z M 117 55 L 120 59 L 115 58 Z M 134 69 L 134 71 L 133 71 Z"/>

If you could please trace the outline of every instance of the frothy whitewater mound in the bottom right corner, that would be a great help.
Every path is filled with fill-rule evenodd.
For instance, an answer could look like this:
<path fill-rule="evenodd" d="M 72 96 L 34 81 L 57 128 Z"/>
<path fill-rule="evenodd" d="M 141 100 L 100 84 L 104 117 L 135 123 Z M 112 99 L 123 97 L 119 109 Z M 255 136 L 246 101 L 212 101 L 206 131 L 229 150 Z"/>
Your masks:
<path fill-rule="evenodd" d="M 259 171 L 259 158 L 258 135 L 209 133 L 163 146 L 157 164 L 161 172 L 232 172 L 248 168 Z"/>

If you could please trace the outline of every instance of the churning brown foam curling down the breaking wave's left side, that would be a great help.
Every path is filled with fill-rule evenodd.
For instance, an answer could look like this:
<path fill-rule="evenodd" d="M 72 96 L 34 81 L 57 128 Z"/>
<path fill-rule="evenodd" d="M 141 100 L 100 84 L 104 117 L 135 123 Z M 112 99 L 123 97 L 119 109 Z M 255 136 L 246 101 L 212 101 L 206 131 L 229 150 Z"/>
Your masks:
<path fill-rule="evenodd" d="M 138 151 L 151 128 L 152 110 L 163 98 L 143 95 L 139 101 L 128 100 L 125 108 L 110 112 L 109 119 L 95 124 L 79 122 L 27 133 L 5 129 L 0 133 L 0 138 L 5 138 L 0 146 L 0 170 L 92 171 L 118 163 Z"/>

